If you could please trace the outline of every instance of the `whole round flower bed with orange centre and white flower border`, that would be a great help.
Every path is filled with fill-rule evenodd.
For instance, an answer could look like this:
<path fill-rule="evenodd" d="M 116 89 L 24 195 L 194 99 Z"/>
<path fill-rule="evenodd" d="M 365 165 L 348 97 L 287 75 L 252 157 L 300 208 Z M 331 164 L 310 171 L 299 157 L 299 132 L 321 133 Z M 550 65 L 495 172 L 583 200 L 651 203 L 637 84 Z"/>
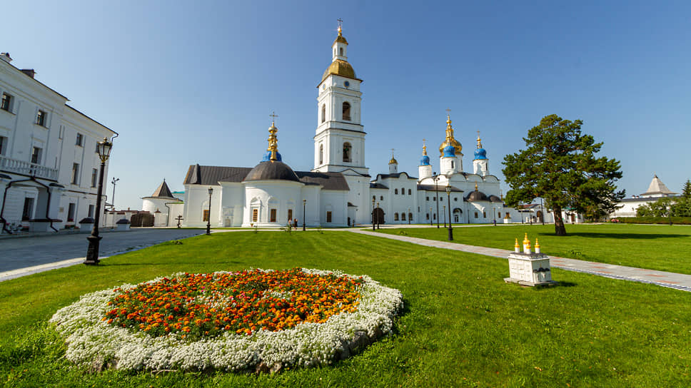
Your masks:
<path fill-rule="evenodd" d="M 102 369 L 275 372 L 330 364 L 390 332 L 403 300 L 319 270 L 179 273 L 92 292 L 51 318 L 66 357 Z"/>

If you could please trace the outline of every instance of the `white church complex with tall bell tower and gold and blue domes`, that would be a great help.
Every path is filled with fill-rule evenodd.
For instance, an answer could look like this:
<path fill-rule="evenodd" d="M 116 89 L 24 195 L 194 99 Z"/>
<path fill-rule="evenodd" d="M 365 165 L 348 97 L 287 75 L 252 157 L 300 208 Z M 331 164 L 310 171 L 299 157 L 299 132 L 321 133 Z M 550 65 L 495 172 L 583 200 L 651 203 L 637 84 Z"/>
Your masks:
<path fill-rule="evenodd" d="M 253 168 L 189 167 L 183 183 L 183 225 L 277 228 L 297 220 L 297 225 L 329 228 L 370 224 L 373 214 L 386 224 L 449 222 L 449 217 L 453 223 L 520 223 L 528 217 L 553 221 L 543 209 L 519 211 L 504 205 L 479 135 L 473 173 L 463 170 L 463 147 L 454 138 L 450 117 L 439 146 L 438 168 L 433 168 L 423 144 L 418 178 L 398 172 L 393 155 L 388 173 L 373 178 L 365 165 L 360 122 L 362 80 L 355 76 L 347 54 L 348 41 L 339 26 L 331 65 L 318 84 L 314 168 L 294 171 L 284 163 L 274 122 L 268 128 L 266 153 Z M 176 216 L 169 215 L 169 225 Z M 565 217 L 567 222 L 581 220 Z"/>

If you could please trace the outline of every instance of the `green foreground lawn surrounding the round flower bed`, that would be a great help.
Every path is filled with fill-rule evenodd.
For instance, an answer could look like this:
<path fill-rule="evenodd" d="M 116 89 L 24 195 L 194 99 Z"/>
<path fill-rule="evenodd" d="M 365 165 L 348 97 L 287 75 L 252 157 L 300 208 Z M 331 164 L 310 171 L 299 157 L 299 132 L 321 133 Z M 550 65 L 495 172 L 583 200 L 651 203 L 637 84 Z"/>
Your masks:
<path fill-rule="evenodd" d="M 473 228 L 468 228 L 473 229 Z M 485 228 L 477 228 L 478 230 Z M 507 228 L 508 229 L 508 228 Z M 518 230 L 518 229 L 517 229 Z M 460 234 L 460 231 L 458 231 Z M 687 387 L 691 293 L 553 270 L 503 282 L 505 260 L 345 231 L 218 233 L 0 282 L 0 383 L 11 387 Z M 512 238 L 513 241 L 513 238 Z M 549 246 L 545 244 L 545 246 Z M 405 297 L 397 334 L 321 369 L 85 373 L 46 325 L 86 292 L 178 271 L 315 267 L 367 274 Z"/>

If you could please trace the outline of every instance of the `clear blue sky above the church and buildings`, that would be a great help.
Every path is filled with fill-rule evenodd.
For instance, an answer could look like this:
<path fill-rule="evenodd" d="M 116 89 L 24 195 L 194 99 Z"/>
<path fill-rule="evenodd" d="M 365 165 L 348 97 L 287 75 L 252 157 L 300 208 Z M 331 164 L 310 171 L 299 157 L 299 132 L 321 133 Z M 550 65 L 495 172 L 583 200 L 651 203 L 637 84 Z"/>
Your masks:
<path fill-rule="evenodd" d="M 283 161 L 311 170 L 338 18 L 372 175 L 395 148 L 417 176 L 423 138 L 436 170 L 450 108 L 467 171 L 476 131 L 503 180 L 504 155 L 556 113 L 621 161 L 627 196 L 654 173 L 675 192 L 691 178 L 689 1 L 6 1 L 0 51 L 120 133 L 108 180 L 138 209 L 191 164 L 259 163 L 272 111 Z"/>

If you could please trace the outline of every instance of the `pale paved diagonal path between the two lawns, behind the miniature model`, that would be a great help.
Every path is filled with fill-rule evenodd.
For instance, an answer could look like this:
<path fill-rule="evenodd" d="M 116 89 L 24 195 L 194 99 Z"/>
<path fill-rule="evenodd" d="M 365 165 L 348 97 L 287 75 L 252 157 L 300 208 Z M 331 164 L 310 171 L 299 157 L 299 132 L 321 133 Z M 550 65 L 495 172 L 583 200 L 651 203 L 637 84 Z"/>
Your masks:
<path fill-rule="evenodd" d="M 425 245 L 428 247 L 438 247 L 450 250 L 460 250 L 463 252 L 478 253 L 493 257 L 507 258 L 513 250 L 503 250 L 488 247 L 476 247 L 475 245 L 458 244 L 457 242 L 425 240 L 424 238 L 414 238 L 402 235 L 389 235 L 387 233 L 374 233 L 365 230 L 347 229 L 353 233 L 376 236 L 380 238 L 390 238 L 412 242 L 413 244 Z M 550 257 L 550 265 L 576 272 L 585 272 L 592 275 L 611 277 L 612 279 L 631 280 L 634 282 L 650 283 L 662 287 L 675 288 L 677 290 L 691 291 L 691 275 L 683 275 L 674 272 L 663 272 L 655 270 L 645 270 L 636 267 L 624 267 L 622 265 L 603 264 L 601 262 L 590 262 L 584 260 L 568 259 L 565 257 Z"/>

